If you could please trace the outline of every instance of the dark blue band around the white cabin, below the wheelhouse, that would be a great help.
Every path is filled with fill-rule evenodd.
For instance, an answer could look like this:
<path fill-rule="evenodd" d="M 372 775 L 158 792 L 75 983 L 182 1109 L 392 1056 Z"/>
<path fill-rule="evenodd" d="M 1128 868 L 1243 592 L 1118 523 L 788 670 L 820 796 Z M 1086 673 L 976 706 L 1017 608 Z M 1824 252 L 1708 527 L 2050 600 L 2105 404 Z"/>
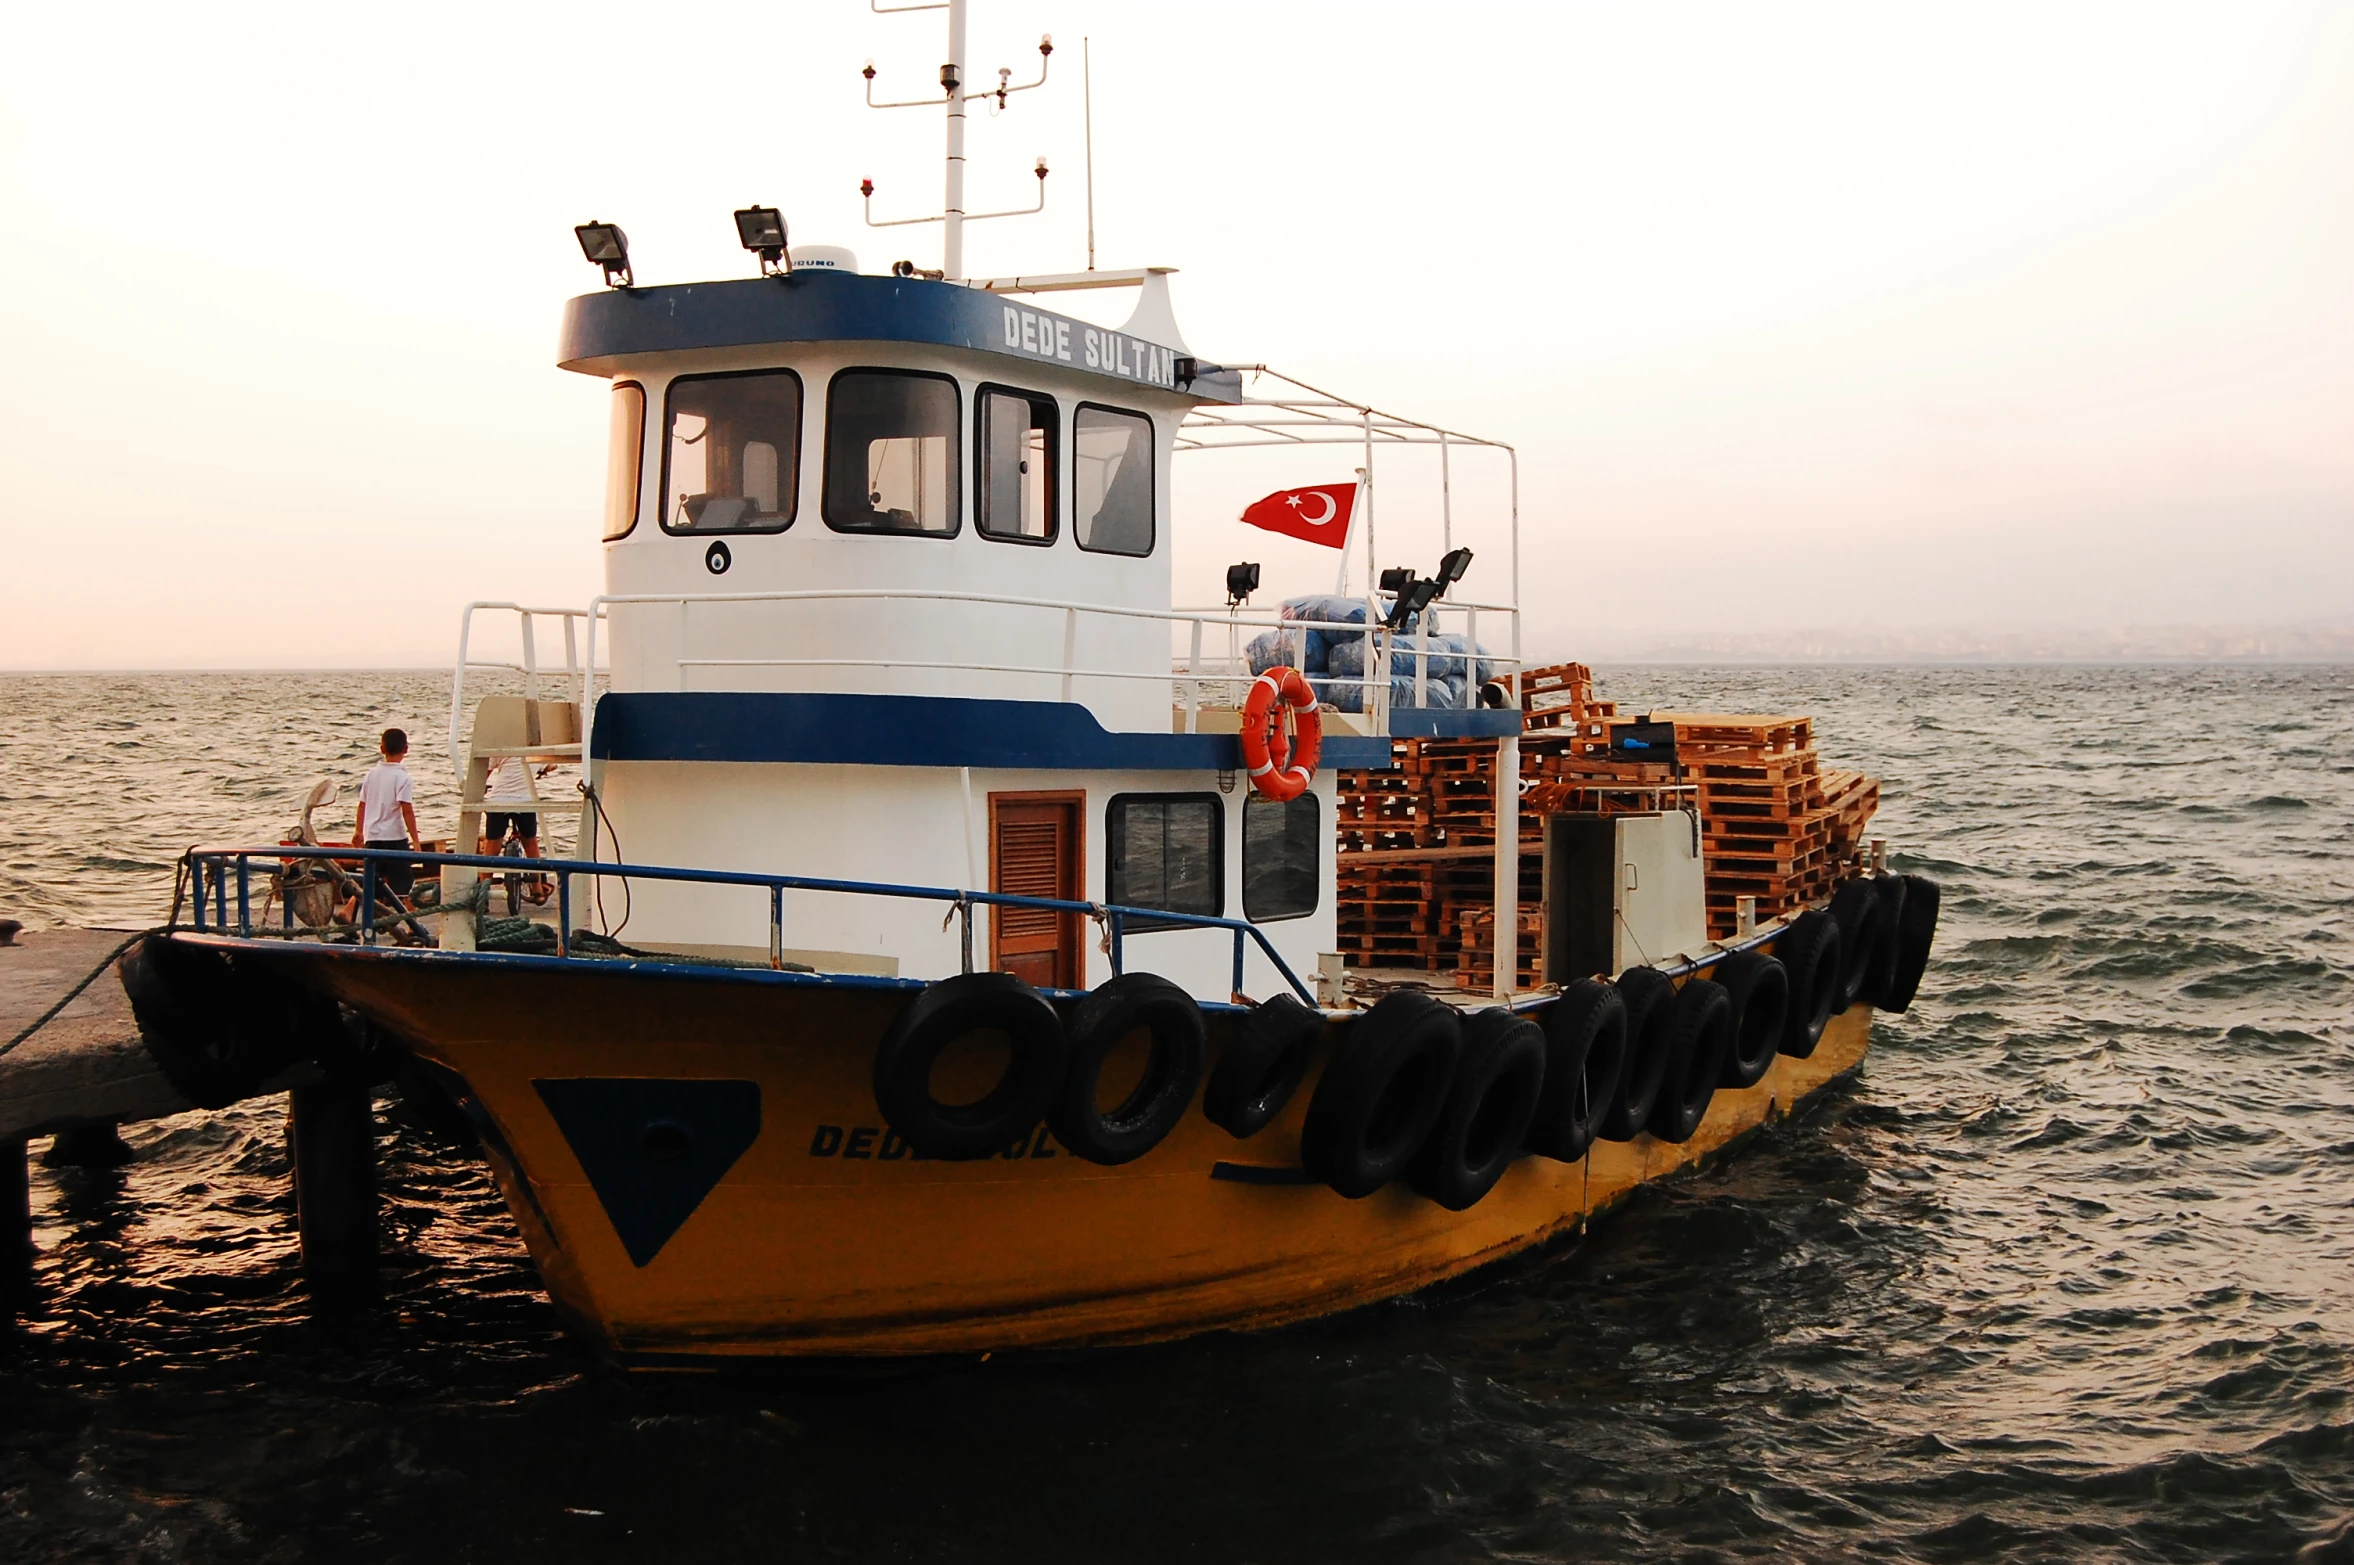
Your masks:
<path fill-rule="evenodd" d="M 598 760 L 998 772 L 1233 772 L 1243 765 L 1233 734 L 1113 734 L 1069 701 L 831 692 L 612 692 L 596 704 L 588 753 Z M 1396 762 L 1389 739 L 1332 734 L 1321 765 Z"/>

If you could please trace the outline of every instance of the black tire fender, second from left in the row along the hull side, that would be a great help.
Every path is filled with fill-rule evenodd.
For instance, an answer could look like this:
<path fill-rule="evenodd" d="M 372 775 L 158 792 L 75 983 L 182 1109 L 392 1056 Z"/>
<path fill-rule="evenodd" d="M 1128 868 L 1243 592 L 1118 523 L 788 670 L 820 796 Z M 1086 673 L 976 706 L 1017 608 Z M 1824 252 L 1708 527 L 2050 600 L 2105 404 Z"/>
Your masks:
<path fill-rule="evenodd" d="M 1130 1033 L 1151 1035 L 1144 1075 L 1116 1106 L 1099 1101 L 1104 1061 Z M 1088 1163 L 1135 1163 L 1177 1127 L 1201 1090 L 1208 1043 L 1201 1005 L 1153 972 L 1123 972 L 1078 1003 L 1071 1057 L 1048 1113 L 1055 1139 Z"/>

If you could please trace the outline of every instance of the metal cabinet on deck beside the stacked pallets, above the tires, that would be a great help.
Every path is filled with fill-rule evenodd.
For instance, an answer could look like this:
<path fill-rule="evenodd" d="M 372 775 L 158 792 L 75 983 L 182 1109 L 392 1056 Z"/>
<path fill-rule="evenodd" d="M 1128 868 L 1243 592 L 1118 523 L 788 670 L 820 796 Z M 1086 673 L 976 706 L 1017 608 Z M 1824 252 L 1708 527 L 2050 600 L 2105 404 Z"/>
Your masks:
<path fill-rule="evenodd" d="M 1709 941 L 1700 817 L 1544 821 L 1544 981 L 1617 974 Z"/>

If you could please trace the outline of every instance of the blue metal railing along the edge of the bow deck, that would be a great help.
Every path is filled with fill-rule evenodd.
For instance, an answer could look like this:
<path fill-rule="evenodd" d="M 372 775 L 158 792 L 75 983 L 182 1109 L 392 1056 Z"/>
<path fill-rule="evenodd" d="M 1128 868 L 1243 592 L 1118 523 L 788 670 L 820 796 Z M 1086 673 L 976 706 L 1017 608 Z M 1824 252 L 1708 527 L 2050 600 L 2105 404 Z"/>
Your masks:
<path fill-rule="evenodd" d="M 746 885 L 767 890 L 767 951 L 770 965 L 784 965 L 784 894 L 786 892 L 836 892 L 845 897 L 899 897 L 906 901 L 942 901 L 951 906 L 951 918 L 963 918 L 963 963 L 965 972 L 972 972 L 972 908 L 1038 908 L 1048 913 L 1078 913 L 1085 918 L 1097 918 L 1104 923 L 1104 932 L 1111 944 L 1111 972 L 1125 972 L 1125 923 L 1130 918 L 1146 918 L 1153 927 L 1179 927 L 1179 930 L 1226 930 L 1233 934 L 1233 993 L 1243 993 L 1243 953 L 1248 944 L 1257 944 L 1259 955 L 1274 965 L 1283 981 L 1292 986 L 1304 1003 L 1316 1005 L 1316 995 L 1299 974 L 1276 955 L 1269 944 L 1266 932 L 1241 918 L 1210 918 L 1203 913 L 1168 913 L 1163 908 L 1130 908 L 1102 901 L 1062 901 L 1057 897 L 1015 897 L 1012 892 L 956 892 L 937 885 L 890 885 L 883 880 L 822 880 L 814 875 L 756 875 L 749 871 L 730 868 L 673 868 L 661 864 L 614 864 L 600 859 L 511 859 L 492 854 L 433 854 L 433 852 L 407 852 L 400 847 L 297 847 L 297 845 L 273 845 L 273 847 L 191 847 L 186 854 L 188 871 L 193 875 L 193 927 L 205 934 L 238 934 L 242 939 L 254 939 L 254 859 L 268 861 L 268 866 L 282 866 L 299 859 L 325 859 L 330 864 L 358 861 L 358 875 L 346 878 L 355 883 L 360 897 L 360 911 L 355 920 L 355 934 L 363 944 L 377 941 L 377 908 L 391 906 L 388 897 L 377 892 L 377 866 L 379 864 L 419 864 L 428 873 L 438 868 L 480 868 L 501 875 L 532 873 L 553 875 L 556 880 L 556 955 L 546 960 L 570 960 L 572 953 L 572 878 L 605 878 L 605 880 L 683 880 L 690 885 Z M 271 868 L 264 875 L 271 875 Z M 231 911 L 231 899 L 235 908 Z M 294 934 L 294 906 L 290 897 L 280 897 L 280 932 Z M 435 908 L 417 911 L 417 918 L 435 915 Z M 398 918 L 395 918 L 398 923 Z M 464 953 L 450 953 L 464 955 Z M 692 960 L 692 958 L 680 958 Z"/>

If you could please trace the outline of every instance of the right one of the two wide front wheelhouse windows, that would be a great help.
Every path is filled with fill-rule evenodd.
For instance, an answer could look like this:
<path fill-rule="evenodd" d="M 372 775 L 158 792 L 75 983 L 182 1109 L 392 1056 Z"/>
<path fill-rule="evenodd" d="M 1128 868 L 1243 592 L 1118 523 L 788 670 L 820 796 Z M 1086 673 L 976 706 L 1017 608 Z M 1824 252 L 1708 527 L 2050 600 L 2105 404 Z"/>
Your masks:
<path fill-rule="evenodd" d="M 826 525 L 953 534 L 963 508 L 960 419 L 956 381 L 944 374 L 836 374 L 826 393 Z"/>

